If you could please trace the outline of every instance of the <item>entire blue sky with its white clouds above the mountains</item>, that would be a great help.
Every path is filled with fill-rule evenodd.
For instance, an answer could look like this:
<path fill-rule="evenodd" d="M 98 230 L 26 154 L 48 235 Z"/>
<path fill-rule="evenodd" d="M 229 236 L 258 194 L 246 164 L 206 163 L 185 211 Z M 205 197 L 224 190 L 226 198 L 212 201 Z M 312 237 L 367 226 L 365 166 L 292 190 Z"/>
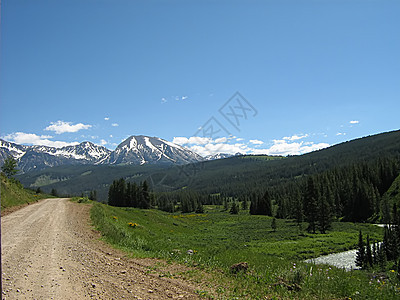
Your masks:
<path fill-rule="evenodd" d="M 400 127 L 399 1 L 1 5 L 9 141 L 286 155 Z"/>

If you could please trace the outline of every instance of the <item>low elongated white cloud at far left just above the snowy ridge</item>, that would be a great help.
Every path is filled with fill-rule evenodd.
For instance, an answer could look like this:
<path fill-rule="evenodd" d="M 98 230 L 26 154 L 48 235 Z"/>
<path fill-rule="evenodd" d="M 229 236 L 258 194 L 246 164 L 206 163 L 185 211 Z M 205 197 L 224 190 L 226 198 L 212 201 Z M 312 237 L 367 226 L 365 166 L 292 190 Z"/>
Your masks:
<path fill-rule="evenodd" d="M 49 135 L 37 135 L 34 133 L 14 132 L 3 137 L 5 140 L 14 142 L 17 144 L 28 144 L 28 145 L 42 145 L 49 147 L 61 148 L 65 146 L 77 145 L 78 142 L 62 142 L 49 140 L 53 138 Z"/>

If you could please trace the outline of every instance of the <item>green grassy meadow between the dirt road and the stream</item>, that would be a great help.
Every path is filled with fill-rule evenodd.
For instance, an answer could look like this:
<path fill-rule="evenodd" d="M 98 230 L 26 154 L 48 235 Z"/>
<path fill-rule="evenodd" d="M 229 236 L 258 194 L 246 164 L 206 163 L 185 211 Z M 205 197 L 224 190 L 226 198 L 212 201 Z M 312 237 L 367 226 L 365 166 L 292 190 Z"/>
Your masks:
<path fill-rule="evenodd" d="M 291 220 L 277 220 L 273 231 L 270 217 L 250 216 L 244 211 L 230 215 L 220 209 L 206 206 L 204 214 L 168 214 L 95 204 L 91 217 L 107 242 L 132 256 L 194 267 L 185 274 L 191 280 L 201 281 L 200 271 L 206 270 L 211 276 L 207 279 L 209 290 L 198 291 L 205 298 L 400 298 L 394 272 L 346 272 L 302 262 L 354 248 L 360 229 L 372 240 L 380 240 L 382 229 L 377 226 L 334 223 L 332 230 L 322 235 L 308 234 Z M 239 262 L 247 262 L 249 270 L 232 274 L 230 266 Z"/>

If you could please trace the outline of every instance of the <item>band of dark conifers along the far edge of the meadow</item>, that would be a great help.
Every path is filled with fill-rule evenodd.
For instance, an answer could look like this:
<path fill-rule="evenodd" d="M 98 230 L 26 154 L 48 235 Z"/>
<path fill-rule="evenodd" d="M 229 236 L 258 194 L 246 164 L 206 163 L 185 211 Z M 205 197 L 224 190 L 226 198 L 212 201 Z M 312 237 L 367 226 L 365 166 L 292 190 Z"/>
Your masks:
<path fill-rule="evenodd" d="M 387 221 L 391 204 L 383 195 L 397 176 L 399 160 L 379 157 L 314 175 L 299 175 L 275 185 L 255 185 L 246 195 L 226 191 L 208 194 L 190 188 L 153 194 L 146 181 L 137 185 L 121 178 L 110 186 L 108 202 L 114 206 L 154 207 L 183 213 L 201 213 L 203 205 L 221 205 L 233 214 L 239 212 L 240 206 L 247 209 L 250 203 L 252 215 L 296 219 L 298 224 L 305 221 L 309 232 L 325 233 L 333 220 Z"/>

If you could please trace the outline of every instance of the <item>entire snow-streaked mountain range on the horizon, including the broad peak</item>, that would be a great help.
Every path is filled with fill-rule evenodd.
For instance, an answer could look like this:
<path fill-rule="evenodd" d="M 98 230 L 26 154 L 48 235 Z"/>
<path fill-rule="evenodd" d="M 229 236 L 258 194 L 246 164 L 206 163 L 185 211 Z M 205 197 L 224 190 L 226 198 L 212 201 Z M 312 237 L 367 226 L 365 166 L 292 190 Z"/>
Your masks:
<path fill-rule="evenodd" d="M 127 138 L 114 151 L 91 142 L 54 148 L 18 145 L 0 139 L 0 164 L 10 155 L 18 160 L 18 168 L 24 173 L 60 165 L 182 165 L 230 156 L 216 154 L 203 158 L 177 144 L 144 135 Z"/>

